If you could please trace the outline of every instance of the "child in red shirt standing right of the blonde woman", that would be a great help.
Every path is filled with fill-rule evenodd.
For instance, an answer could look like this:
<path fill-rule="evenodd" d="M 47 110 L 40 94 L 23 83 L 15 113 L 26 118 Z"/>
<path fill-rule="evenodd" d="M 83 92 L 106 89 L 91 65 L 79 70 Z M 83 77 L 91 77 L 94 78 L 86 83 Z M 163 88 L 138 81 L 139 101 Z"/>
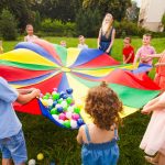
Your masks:
<path fill-rule="evenodd" d="M 134 61 L 134 48 L 131 46 L 131 38 L 125 37 L 123 43 L 124 43 L 124 46 L 122 50 L 123 64 L 133 63 L 133 61 Z"/>

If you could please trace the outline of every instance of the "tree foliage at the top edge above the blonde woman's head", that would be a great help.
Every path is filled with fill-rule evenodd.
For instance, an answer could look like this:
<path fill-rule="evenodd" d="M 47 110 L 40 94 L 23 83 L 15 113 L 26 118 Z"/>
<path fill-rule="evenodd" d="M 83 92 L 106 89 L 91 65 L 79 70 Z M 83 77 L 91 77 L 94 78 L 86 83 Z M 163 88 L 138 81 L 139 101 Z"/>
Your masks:
<path fill-rule="evenodd" d="M 112 13 L 113 18 L 121 21 L 125 16 L 125 10 L 131 0 L 84 0 L 84 9 L 99 9 L 103 16 L 107 12 Z"/>

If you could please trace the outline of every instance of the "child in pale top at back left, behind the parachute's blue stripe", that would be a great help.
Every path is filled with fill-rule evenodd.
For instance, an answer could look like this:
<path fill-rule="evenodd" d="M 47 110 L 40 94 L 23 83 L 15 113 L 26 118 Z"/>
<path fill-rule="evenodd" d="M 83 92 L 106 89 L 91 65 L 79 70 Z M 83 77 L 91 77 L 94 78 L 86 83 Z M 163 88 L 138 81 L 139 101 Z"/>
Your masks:
<path fill-rule="evenodd" d="M 26 30 L 28 35 L 24 37 L 24 42 L 33 42 L 35 38 L 37 38 L 37 36 L 33 34 L 32 24 L 28 24 L 25 30 Z"/>

